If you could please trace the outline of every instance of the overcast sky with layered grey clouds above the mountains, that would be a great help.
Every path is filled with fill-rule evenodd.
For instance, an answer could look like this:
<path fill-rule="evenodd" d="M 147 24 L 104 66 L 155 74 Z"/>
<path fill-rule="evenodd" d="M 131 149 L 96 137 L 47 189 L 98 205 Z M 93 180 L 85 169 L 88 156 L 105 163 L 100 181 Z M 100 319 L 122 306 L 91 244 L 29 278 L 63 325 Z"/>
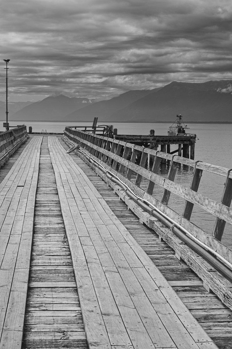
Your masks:
<path fill-rule="evenodd" d="M 231 0 L 0 0 L 0 100 L 232 79 Z"/>

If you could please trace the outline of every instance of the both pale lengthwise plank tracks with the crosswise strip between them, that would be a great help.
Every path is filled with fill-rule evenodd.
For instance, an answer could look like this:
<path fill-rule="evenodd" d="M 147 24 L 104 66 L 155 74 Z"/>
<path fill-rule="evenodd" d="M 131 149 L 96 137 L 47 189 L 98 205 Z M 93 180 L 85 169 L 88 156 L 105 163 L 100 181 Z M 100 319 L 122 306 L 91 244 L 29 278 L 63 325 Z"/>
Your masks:
<path fill-rule="evenodd" d="M 24 349 L 86 348 L 78 296 L 89 348 L 217 348 L 57 137 L 38 181 L 42 138 L 0 184 L 0 348 L 20 348 L 23 324 Z"/>

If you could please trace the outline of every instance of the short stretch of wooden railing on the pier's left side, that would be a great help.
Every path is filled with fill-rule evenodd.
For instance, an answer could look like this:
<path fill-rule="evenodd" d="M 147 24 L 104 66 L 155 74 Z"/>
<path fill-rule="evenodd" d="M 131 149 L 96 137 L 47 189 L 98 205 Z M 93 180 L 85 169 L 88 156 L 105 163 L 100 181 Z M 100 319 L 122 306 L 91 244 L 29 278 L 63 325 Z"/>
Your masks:
<path fill-rule="evenodd" d="M 0 133 L 0 167 L 28 138 L 27 126 L 24 125 Z"/>

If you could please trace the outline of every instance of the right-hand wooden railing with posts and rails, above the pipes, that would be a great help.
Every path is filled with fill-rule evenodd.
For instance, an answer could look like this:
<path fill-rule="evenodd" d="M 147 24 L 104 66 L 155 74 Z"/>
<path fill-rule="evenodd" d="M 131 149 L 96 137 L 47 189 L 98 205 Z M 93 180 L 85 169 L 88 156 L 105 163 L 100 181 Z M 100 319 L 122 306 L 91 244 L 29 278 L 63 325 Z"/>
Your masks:
<path fill-rule="evenodd" d="M 162 153 L 161 151 L 143 148 L 131 143 L 109 139 L 103 136 L 94 135 L 92 133 L 83 132 L 81 130 L 73 130 L 68 127 L 65 128 L 65 135 L 67 135 L 67 137 L 74 142 L 80 142 L 81 146 L 87 149 L 90 154 L 95 155 L 98 159 L 102 160 L 106 164 L 112 165 L 113 170 L 115 170 L 117 164 L 119 164 L 120 174 L 122 174 L 124 168 L 127 168 L 128 170 L 126 178 L 128 180 L 130 180 L 132 171 L 135 172 L 135 185 L 130 181 L 128 182 L 129 185 L 135 187 L 137 193 L 143 197 L 151 196 L 152 200 L 155 200 L 155 198 L 152 196 L 155 184 L 162 187 L 164 189 L 164 193 L 159 206 L 160 204 L 163 204 L 165 206 L 163 207 L 165 211 L 171 210 L 167 207 L 170 193 L 178 195 L 180 198 L 186 200 L 182 215 L 174 213 L 173 210 L 171 210 L 172 213 L 171 211 L 169 213 L 171 213 L 172 216 L 175 216 L 175 218 L 178 217 L 178 220 L 181 220 L 182 224 L 185 226 L 187 225 L 187 228 L 189 228 L 189 220 L 192 214 L 193 205 L 197 205 L 217 217 L 215 229 L 212 234 L 217 238 L 217 240 L 221 240 L 224 231 L 224 226 L 219 224 L 219 220 L 220 222 L 225 221 L 232 224 L 232 209 L 229 207 L 232 198 L 232 191 L 230 190 L 232 183 L 232 171 L 229 169 L 200 161 L 195 162 L 194 160 L 182 158 L 177 155 L 173 156 L 167 153 Z M 138 154 L 141 155 L 140 164 L 135 163 L 136 156 L 138 156 Z M 148 155 L 154 157 L 154 165 L 151 171 L 144 168 Z M 171 161 L 168 178 L 163 178 L 158 175 L 158 168 L 162 159 Z M 184 164 L 194 169 L 190 188 L 186 188 L 174 182 L 177 164 Z M 214 201 L 200 193 L 197 193 L 203 171 L 215 173 L 225 177 L 226 181 L 222 202 Z M 149 181 L 146 191 L 143 191 L 140 188 L 142 177 Z M 193 225 L 193 223 L 190 224 Z M 194 228 L 194 230 L 197 229 Z M 209 235 L 207 234 L 207 236 Z"/>

